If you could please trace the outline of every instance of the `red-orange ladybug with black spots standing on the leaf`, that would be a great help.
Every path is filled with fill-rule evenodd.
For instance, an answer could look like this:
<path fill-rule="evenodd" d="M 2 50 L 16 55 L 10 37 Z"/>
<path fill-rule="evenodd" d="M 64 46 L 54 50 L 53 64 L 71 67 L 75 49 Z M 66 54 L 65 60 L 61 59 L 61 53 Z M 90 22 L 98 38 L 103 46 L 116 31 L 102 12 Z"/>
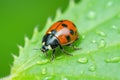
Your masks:
<path fill-rule="evenodd" d="M 41 51 L 46 53 L 48 50 L 53 50 L 52 59 L 55 57 L 55 49 L 60 47 L 61 51 L 68 54 L 62 46 L 73 46 L 72 43 L 78 39 L 78 32 L 75 24 L 69 20 L 60 20 L 54 23 L 42 38 Z"/>

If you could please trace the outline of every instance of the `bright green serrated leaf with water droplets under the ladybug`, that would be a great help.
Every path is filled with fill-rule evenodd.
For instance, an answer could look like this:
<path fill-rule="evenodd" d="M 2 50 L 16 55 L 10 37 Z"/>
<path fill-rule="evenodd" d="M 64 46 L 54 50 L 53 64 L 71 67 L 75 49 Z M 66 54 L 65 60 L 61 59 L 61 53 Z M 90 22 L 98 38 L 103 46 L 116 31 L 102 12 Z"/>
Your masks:
<path fill-rule="evenodd" d="M 14 58 L 9 79 L 12 80 L 120 80 L 120 0 L 73 0 L 65 13 L 57 11 L 48 19 L 42 31 L 35 28 L 33 37 L 25 37 Z M 51 51 L 46 57 L 41 51 L 41 39 L 54 22 L 68 19 L 78 28 L 80 39 L 75 42 L 81 50 L 64 47 L 74 56 L 57 49 L 54 61 Z"/>

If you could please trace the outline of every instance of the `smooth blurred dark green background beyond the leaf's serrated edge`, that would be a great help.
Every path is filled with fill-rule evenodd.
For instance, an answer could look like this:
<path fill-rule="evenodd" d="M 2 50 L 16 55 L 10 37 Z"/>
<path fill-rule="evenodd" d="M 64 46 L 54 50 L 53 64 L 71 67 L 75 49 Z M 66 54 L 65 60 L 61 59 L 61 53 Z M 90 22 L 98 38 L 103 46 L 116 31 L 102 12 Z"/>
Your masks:
<path fill-rule="evenodd" d="M 75 0 L 79 2 L 79 0 Z M 0 77 L 10 74 L 11 53 L 18 54 L 17 45 L 24 46 L 24 36 L 31 38 L 33 29 L 44 27 L 56 10 L 65 11 L 69 0 L 0 0 Z"/>

